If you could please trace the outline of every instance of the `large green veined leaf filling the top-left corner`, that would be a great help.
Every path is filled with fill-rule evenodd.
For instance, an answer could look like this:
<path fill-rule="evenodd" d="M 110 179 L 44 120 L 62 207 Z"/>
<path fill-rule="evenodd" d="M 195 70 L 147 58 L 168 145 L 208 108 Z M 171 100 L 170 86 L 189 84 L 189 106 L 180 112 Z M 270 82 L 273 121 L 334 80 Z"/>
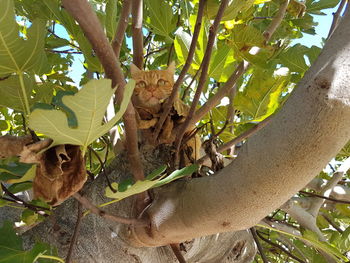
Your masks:
<path fill-rule="evenodd" d="M 28 30 L 28 39 L 24 40 L 19 37 L 13 1 L 1 0 L 0 6 L 0 74 L 40 72 L 46 59 L 46 22 L 35 19 Z"/>

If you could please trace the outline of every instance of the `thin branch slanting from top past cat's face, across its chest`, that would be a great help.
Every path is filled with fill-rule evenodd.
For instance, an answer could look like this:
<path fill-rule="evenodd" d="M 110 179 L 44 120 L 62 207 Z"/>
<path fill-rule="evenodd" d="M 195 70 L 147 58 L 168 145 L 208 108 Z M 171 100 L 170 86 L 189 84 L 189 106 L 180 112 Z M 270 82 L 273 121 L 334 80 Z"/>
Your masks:
<path fill-rule="evenodd" d="M 201 25 L 202 25 L 202 18 L 203 18 L 203 13 L 204 13 L 204 6 L 207 0 L 200 0 L 199 1 L 199 6 L 198 6 L 198 12 L 197 12 L 197 18 L 196 18 L 196 24 L 194 27 L 194 31 L 193 31 L 193 35 L 192 35 L 192 41 L 191 41 L 191 45 L 190 48 L 188 50 L 188 55 L 186 58 L 186 62 L 184 67 L 182 68 L 179 77 L 177 78 L 174 86 L 173 86 L 173 90 L 167 100 L 166 105 L 164 106 L 164 111 L 162 113 L 162 115 L 159 118 L 159 121 L 156 124 L 155 127 L 155 131 L 153 134 L 153 138 L 154 140 L 156 140 L 159 136 L 160 130 L 164 124 L 165 119 L 168 117 L 169 112 L 171 110 L 171 107 L 173 106 L 173 103 L 175 101 L 175 98 L 178 96 L 178 91 L 180 88 L 180 85 L 182 84 L 185 75 L 187 74 L 187 71 L 189 70 L 191 64 L 192 64 L 192 60 L 193 60 L 193 56 L 194 56 L 194 52 L 196 51 L 196 45 L 197 45 L 197 41 L 198 41 L 198 36 L 201 30 Z M 197 71 L 198 72 L 198 71 Z M 193 77 L 194 79 L 195 77 Z"/>

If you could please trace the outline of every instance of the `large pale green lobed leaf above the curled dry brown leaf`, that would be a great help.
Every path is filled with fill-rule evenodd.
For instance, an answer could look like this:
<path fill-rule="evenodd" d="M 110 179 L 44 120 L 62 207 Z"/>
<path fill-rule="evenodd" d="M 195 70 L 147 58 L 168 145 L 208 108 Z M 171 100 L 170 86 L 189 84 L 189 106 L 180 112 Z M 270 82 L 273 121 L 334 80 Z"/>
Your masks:
<path fill-rule="evenodd" d="M 125 86 L 123 100 L 117 114 L 108 123 L 102 125 L 107 105 L 114 93 L 108 79 L 91 80 L 73 96 L 65 96 L 62 102 L 70 108 L 77 118 L 78 127 L 68 125 L 67 115 L 61 110 L 35 109 L 29 116 L 29 127 L 54 140 L 53 144 L 73 144 L 87 146 L 109 131 L 122 117 L 130 101 L 135 81 Z"/>

